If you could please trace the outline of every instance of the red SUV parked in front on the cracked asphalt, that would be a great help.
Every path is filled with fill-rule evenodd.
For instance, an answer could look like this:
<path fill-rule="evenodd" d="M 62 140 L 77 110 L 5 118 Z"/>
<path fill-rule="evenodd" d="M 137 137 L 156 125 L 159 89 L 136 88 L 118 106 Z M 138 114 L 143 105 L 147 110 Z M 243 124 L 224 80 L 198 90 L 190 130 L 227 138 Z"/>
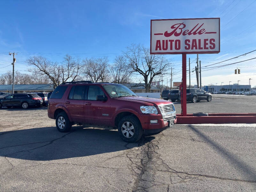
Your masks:
<path fill-rule="evenodd" d="M 74 124 L 118 129 L 126 142 L 140 140 L 143 133 L 158 133 L 176 123 L 170 101 L 139 97 L 121 84 L 66 82 L 53 92 L 48 117 L 56 119 L 60 132 Z"/>

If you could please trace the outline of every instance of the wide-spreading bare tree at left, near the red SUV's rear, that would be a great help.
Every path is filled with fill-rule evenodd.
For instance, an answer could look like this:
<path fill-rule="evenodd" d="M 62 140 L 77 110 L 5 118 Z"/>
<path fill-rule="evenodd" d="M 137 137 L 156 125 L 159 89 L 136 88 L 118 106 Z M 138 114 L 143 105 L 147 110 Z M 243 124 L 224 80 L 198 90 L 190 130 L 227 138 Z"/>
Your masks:
<path fill-rule="evenodd" d="M 79 74 L 82 68 L 80 60 L 75 60 L 68 54 L 64 57 L 61 65 L 57 62 L 53 63 L 42 56 L 30 57 L 27 62 L 31 66 L 28 71 L 33 74 L 48 76 L 54 87 L 61 82 L 75 81 L 80 78 Z"/>

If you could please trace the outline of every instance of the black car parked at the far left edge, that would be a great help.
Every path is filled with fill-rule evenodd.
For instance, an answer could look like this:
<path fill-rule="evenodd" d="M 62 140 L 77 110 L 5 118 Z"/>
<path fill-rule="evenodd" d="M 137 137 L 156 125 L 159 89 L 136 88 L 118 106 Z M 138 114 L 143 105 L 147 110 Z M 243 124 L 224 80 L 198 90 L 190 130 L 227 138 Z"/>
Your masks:
<path fill-rule="evenodd" d="M 40 107 L 42 103 L 42 98 L 37 94 L 15 93 L 0 99 L 0 108 L 21 107 L 27 109 L 28 107 Z"/>

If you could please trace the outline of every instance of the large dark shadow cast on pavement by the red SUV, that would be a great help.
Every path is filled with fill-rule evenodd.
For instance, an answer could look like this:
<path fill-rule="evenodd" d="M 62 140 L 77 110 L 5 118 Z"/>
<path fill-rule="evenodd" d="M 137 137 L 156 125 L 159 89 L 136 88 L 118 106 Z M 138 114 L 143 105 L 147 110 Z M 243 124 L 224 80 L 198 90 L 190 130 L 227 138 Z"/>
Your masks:
<path fill-rule="evenodd" d="M 71 132 L 61 133 L 56 127 L 42 127 L 0 132 L 0 156 L 48 161 L 121 151 L 153 139 L 155 137 L 150 136 L 144 143 L 128 144 L 116 130 L 74 126 Z"/>

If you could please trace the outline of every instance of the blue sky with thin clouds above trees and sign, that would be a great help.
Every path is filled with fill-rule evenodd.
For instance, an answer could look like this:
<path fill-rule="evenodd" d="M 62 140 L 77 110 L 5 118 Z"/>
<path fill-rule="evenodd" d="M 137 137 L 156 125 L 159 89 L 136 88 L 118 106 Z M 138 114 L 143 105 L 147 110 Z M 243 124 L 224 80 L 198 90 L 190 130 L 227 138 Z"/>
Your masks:
<path fill-rule="evenodd" d="M 256 49 L 255 0 L 213 1 L 2 1 L 0 7 L 0 74 L 26 70 L 25 60 L 42 55 L 61 61 L 66 53 L 86 57 L 108 56 L 113 62 L 132 43 L 150 46 L 150 19 L 220 17 L 220 53 L 202 54 L 202 66 Z M 174 81 L 181 78 L 181 55 L 166 55 L 173 63 Z M 196 55 L 187 55 L 195 67 Z M 256 57 L 256 52 L 226 64 Z M 253 67 L 254 66 L 254 67 Z M 202 72 L 202 83 L 256 85 L 256 60 Z M 241 68 L 235 75 L 234 69 Z M 21 71 L 26 73 L 26 71 Z M 170 73 L 167 71 L 167 73 Z M 195 74 L 191 83 L 196 83 Z M 164 76 L 164 83 L 169 79 Z M 142 78 L 141 78 L 142 79 Z M 168 80 L 169 84 L 170 80 Z M 188 81 L 187 81 L 188 82 Z M 165 83 L 166 84 L 166 83 Z M 169 84 L 170 85 L 170 84 Z"/>

